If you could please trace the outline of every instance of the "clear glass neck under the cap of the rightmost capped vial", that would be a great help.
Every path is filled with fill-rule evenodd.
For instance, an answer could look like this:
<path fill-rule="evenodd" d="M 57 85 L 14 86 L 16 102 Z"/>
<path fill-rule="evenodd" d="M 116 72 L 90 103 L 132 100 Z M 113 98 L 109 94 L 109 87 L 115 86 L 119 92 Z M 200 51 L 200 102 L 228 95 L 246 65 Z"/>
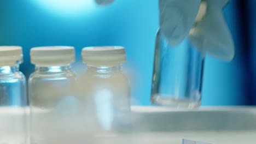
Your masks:
<path fill-rule="evenodd" d="M 119 72 L 123 69 L 122 65 L 100 65 L 100 66 L 95 66 L 95 65 L 87 65 L 88 71 L 94 72 L 94 73 L 116 73 Z"/>

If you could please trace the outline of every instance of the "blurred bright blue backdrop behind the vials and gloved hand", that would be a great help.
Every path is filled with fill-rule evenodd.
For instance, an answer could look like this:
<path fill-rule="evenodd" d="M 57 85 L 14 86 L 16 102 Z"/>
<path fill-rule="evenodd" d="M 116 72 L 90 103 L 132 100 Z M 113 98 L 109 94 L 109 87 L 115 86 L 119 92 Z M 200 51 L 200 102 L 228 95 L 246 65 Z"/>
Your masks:
<path fill-rule="evenodd" d="M 230 63 L 206 57 L 202 105 L 256 104 L 256 11 L 247 9 L 254 5 L 253 0 L 233 0 L 224 9 L 236 56 Z M 157 0 L 116 0 L 107 7 L 91 0 L 2 0 L 0 20 L 0 45 L 23 47 L 20 70 L 26 77 L 34 70 L 29 56 L 34 46 L 74 46 L 74 69 L 85 67 L 80 57 L 85 46 L 126 47 L 124 70 L 131 79 L 132 102 L 150 105 L 155 34 L 159 27 Z"/>

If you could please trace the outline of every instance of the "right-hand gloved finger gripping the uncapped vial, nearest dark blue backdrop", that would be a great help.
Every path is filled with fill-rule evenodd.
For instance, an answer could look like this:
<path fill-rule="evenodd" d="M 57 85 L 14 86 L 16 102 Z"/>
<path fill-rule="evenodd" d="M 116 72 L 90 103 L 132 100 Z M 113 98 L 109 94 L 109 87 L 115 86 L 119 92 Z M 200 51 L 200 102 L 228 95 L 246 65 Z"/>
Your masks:
<path fill-rule="evenodd" d="M 206 52 L 216 58 L 231 61 L 235 55 L 235 46 L 223 15 L 228 0 L 207 0 L 207 14 L 201 28 L 205 33 Z"/>

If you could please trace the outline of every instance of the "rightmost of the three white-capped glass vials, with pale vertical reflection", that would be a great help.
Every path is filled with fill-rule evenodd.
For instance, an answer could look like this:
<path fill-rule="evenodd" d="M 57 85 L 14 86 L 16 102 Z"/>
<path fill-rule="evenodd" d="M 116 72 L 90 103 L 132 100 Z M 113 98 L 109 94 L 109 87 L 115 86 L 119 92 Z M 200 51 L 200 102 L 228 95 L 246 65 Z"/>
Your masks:
<path fill-rule="evenodd" d="M 130 128 L 130 86 L 122 71 L 125 49 L 121 46 L 85 47 L 82 57 L 87 65 L 83 94 L 89 127 L 92 134 L 98 136 L 98 142 L 114 142 L 113 135 L 126 133 Z"/>

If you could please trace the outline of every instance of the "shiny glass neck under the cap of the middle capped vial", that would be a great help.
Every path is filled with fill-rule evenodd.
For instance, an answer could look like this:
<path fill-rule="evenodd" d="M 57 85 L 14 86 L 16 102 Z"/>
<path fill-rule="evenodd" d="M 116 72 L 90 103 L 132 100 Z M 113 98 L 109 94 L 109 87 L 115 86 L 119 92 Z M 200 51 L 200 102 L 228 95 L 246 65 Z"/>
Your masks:
<path fill-rule="evenodd" d="M 39 73 L 65 73 L 71 70 L 71 65 L 64 65 L 64 66 L 42 66 L 36 65 L 36 72 Z"/>

